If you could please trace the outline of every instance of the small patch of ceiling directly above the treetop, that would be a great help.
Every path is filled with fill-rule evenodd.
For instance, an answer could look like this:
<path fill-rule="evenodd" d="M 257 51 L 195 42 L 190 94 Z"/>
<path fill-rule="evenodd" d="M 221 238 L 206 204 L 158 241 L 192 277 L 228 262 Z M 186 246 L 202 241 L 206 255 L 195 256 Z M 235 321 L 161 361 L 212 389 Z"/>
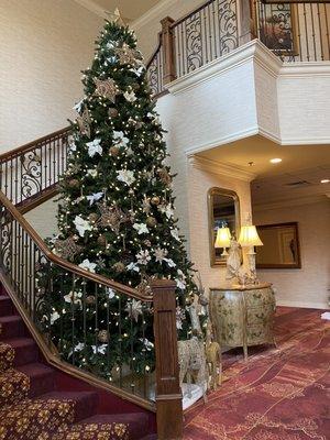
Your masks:
<path fill-rule="evenodd" d="M 106 11 L 114 11 L 119 8 L 121 15 L 133 21 L 139 19 L 151 8 L 160 3 L 161 0 L 92 0 L 94 3 L 105 9 Z"/>

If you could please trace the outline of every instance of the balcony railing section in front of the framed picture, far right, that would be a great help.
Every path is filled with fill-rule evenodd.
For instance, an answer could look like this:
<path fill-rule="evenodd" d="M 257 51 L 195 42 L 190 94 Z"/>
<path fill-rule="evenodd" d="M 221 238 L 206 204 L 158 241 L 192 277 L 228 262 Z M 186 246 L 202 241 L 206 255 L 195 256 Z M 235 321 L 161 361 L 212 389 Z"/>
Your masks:
<path fill-rule="evenodd" d="M 254 2 L 258 38 L 286 62 L 330 59 L 330 3 Z"/>

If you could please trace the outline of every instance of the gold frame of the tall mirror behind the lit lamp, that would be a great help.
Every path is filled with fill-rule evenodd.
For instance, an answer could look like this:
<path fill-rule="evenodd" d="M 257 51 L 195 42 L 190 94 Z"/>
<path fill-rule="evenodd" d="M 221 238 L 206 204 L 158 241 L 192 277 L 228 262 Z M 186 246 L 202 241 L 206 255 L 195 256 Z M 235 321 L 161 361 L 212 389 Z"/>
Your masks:
<path fill-rule="evenodd" d="M 235 191 L 230 189 L 223 189 L 213 187 L 208 190 L 208 217 L 209 217 L 209 248 L 210 248 L 210 264 L 211 267 L 217 266 L 226 266 L 226 260 L 219 260 L 216 256 L 216 249 L 215 249 L 215 233 L 213 233 L 213 226 L 215 226 L 215 215 L 213 215 L 213 197 L 215 195 L 219 196 L 227 196 L 231 197 L 234 201 L 234 209 L 235 209 L 235 233 L 237 238 L 239 238 L 240 228 L 241 228 L 241 216 L 240 216 L 240 199 Z"/>

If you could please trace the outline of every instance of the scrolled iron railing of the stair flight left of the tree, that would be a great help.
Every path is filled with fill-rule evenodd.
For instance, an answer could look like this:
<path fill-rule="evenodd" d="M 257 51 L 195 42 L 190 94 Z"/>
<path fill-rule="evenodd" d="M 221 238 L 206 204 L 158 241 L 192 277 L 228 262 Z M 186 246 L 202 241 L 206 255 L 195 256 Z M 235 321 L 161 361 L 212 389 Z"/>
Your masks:
<path fill-rule="evenodd" d="M 0 189 L 15 206 L 53 189 L 66 170 L 70 128 L 0 155 Z"/>

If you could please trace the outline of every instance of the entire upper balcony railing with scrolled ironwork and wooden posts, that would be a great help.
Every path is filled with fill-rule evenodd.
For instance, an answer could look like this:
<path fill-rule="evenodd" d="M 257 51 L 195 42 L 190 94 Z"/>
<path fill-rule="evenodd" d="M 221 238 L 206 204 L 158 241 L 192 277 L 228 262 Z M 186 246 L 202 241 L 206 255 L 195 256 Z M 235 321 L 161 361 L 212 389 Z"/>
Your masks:
<path fill-rule="evenodd" d="M 162 20 L 147 73 L 154 96 L 166 84 L 258 38 L 285 62 L 330 59 L 330 3 L 209 0 L 186 16 Z"/>

